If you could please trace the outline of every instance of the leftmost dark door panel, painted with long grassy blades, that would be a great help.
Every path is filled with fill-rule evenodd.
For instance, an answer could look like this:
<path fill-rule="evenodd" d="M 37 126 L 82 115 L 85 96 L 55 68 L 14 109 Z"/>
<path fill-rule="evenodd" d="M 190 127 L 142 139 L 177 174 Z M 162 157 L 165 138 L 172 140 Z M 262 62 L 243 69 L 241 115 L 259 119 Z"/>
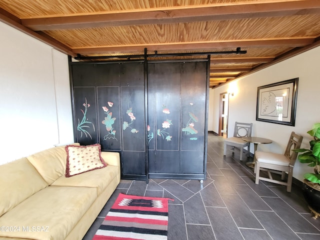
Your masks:
<path fill-rule="evenodd" d="M 74 87 L 75 140 L 81 145 L 97 143 L 94 87 Z"/>

